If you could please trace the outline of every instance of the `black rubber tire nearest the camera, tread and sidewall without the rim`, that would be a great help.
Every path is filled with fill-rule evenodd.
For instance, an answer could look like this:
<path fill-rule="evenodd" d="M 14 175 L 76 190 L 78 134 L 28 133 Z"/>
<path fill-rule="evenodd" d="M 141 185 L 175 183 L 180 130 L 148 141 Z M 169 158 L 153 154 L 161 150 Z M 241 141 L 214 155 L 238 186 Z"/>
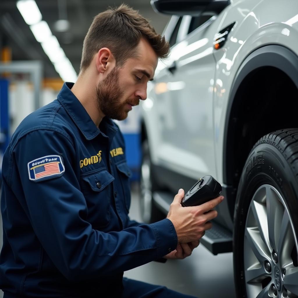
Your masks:
<path fill-rule="evenodd" d="M 245 255 L 246 248 L 244 248 L 244 241 L 246 224 L 248 222 L 247 215 L 249 210 L 251 210 L 249 208 L 251 208 L 250 204 L 252 202 L 253 195 L 256 193 L 259 187 L 262 187 L 263 185 L 269 185 L 270 187 L 272 186 L 284 198 L 284 205 L 287 207 L 289 217 L 292 220 L 292 224 L 294 226 L 293 236 L 295 237 L 296 235 L 296 243 L 294 243 L 291 257 L 294 263 L 293 266 L 298 266 L 297 181 L 298 129 L 283 129 L 262 137 L 254 145 L 248 159 L 246 160 L 238 187 L 235 204 L 233 258 L 237 298 L 254 296 L 252 294 L 248 295 L 246 291 L 247 280 L 245 276 L 246 268 L 244 267 L 244 258 L 245 256 L 247 257 L 247 254 Z M 261 285 L 263 289 L 266 286 L 268 288 L 269 286 L 273 286 L 274 280 L 272 280 L 272 277 L 267 277 L 267 280 L 263 280 L 263 283 Z M 269 283 L 271 283 L 271 285 L 269 285 Z M 265 295 L 262 297 L 265 297 Z"/>

